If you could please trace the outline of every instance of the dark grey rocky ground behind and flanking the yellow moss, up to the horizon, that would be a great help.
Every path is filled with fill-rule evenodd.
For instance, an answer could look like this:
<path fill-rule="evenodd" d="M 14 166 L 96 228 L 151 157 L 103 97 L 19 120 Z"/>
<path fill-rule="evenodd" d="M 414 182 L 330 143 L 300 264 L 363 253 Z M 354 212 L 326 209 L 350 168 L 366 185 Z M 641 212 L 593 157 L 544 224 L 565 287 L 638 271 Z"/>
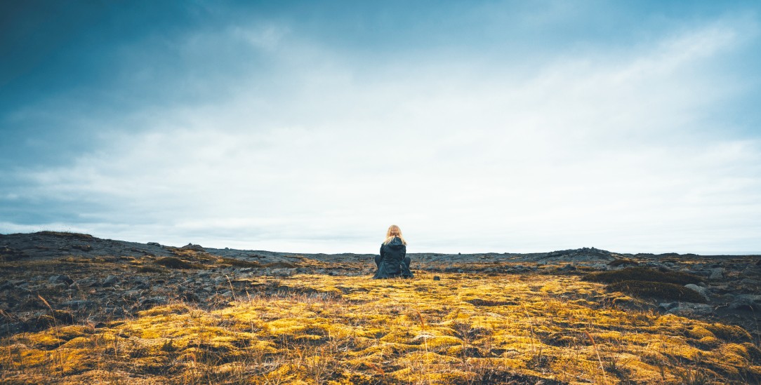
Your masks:
<path fill-rule="evenodd" d="M 409 256 L 413 271 L 431 273 L 586 276 L 595 272 L 627 272 L 632 267 L 683 272 L 698 277 L 683 285 L 690 293 L 699 294 L 698 299 L 675 301 L 673 297 L 632 295 L 626 301 L 614 294 L 610 298 L 617 298 L 616 304 L 622 307 L 648 308 L 743 326 L 759 341 L 756 313 L 761 310 L 761 256 L 622 254 L 595 248 L 527 254 Z M 374 272 L 373 257 L 373 254 L 212 249 L 193 244 L 170 247 L 49 231 L 0 234 L 0 336 L 37 331 L 54 324 L 97 326 L 132 317 L 137 311 L 158 304 L 187 302 L 214 308 L 257 291 L 287 296 L 295 289 L 276 283 L 252 286 L 246 278 L 296 274 L 369 278 Z"/>

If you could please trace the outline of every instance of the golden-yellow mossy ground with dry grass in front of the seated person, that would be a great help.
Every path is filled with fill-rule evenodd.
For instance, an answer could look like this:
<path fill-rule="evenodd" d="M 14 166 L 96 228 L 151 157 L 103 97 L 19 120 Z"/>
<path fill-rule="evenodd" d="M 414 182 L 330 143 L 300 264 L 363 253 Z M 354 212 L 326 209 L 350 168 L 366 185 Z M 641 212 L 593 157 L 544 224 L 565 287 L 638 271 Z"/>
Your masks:
<path fill-rule="evenodd" d="M 438 275 L 248 278 L 245 294 L 218 310 L 177 303 L 99 327 L 22 333 L 0 345 L 0 382 L 761 379 L 761 352 L 737 326 L 622 310 L 616 293 L 576 276 Z"/>

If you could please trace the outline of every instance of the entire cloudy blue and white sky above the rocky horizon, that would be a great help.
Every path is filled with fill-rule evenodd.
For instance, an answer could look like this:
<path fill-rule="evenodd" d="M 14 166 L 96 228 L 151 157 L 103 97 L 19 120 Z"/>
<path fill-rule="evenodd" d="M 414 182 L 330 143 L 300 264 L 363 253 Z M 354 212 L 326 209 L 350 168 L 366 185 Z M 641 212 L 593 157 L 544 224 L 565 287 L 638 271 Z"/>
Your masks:
<path fill-rule="evenodd" d="M 0 234 L 761 253 L 759 2 L 0 3 Z"/>

